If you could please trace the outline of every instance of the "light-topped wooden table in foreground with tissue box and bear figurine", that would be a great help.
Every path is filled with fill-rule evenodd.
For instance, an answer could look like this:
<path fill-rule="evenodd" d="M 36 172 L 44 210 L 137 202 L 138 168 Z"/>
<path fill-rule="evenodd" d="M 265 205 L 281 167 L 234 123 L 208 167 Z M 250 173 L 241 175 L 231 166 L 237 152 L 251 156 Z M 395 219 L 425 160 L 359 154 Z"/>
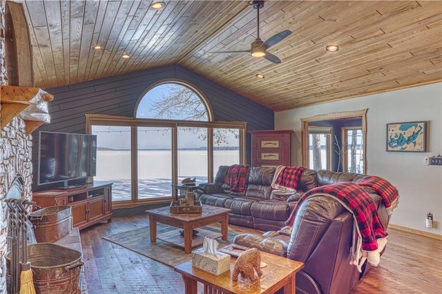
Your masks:
<path fill-rule="evenodd" d="M 186 294 L 198 293 L 198 282 L 203 284 L 204 293 L 262 294 L 275 293 L 283 288 L 282 293 L 292 294 L 296 293 L 296 273 L 304 267 L 302 262 L 261 251 L 261 262 L 265 262 L 267 266 L 261 268 L 260 278 L 249 282 L 239 276 L 238 282 L 233 282 L 231 273 L 233 273 L 235 262 L 236 258 L 231 257 L 230 271 L 221 275 L 213 275 L 213 273 L 196 268 L 192 266 L 191 261 L 175 266 L 175 271 L 182 275 Z"/>

